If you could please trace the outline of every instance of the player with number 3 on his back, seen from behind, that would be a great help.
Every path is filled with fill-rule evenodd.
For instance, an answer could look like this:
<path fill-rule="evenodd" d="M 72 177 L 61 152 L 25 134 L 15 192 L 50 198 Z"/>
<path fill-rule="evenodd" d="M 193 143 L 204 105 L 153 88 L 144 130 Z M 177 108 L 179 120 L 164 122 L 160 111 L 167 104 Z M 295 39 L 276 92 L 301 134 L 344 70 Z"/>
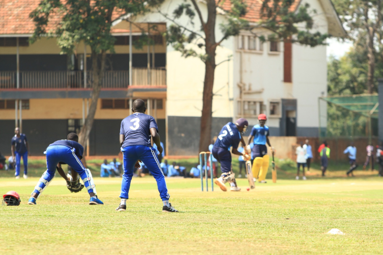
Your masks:
<path fill-rule="evenodd" d="M 146 115 L 145 103 L 141 99 L 133 102 L 133 114 L 121 122 L 120 144 L 121 152 L 124 154 L 124 174 L 121 183 L 121 203 L 117 211 L 126 210 L 126 200 L 129 198 L 130 182 L 132 181 L 135 167 L 143 162 L 157 181 L 158 191 L 163 201 L 163 212 L 178 212 L 169 203 L 170 195 L 167 193 L 165 176 L 162 172 L 160 161 L 156 150 L 152 147 L 151 138 L 157 145 L 157 150 L 162 153 L 163 148 L 158 134 L 157 123 L 152 116 Z"/>

